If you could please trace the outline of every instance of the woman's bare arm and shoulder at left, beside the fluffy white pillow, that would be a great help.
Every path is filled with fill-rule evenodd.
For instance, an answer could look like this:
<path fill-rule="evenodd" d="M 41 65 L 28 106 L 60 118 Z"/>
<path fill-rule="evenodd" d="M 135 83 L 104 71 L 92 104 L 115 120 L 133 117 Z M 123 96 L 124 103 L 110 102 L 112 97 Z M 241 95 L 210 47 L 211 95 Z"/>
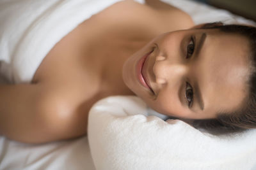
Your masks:
<path fill-rule="evenodd" d="M 0 134 L 7 138 L 44 143 L 86 133 L 88 114 L 77 113 L 63 90 L 40 83 L 0 85 L 0 94 Z"/>

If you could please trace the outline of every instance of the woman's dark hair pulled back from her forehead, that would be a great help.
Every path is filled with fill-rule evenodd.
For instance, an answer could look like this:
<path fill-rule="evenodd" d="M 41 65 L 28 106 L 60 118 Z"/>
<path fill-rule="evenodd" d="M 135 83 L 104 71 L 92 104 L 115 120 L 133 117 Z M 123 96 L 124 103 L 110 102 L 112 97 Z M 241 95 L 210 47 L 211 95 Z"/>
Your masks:
<path fill-rule="evenodd" d="M 232 113 L 218 113 L 217 118 L 193 120 L 192 125 L 214 134 L 232 134 L 246 129 L 256 128 L 256 27 L 250 25 L 223 25 L 221 22 L 204 24 L 199 29 L 218 29 L 222 32 L 239 34 L 248 39 L 250 44 L 250 75 L 247 81 L 248 96 L 239 110 Z"/>

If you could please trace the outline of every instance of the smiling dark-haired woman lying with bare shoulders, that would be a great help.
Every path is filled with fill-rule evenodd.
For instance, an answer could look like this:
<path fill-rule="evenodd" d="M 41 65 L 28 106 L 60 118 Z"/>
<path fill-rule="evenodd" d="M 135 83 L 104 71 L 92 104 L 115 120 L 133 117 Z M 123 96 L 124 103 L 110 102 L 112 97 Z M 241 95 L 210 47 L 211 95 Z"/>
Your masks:
<path fill-rule="evenodd" d="M 221 27 L 195 26 L 161 1 L 115 3 L 54 45 L 31 83 L 0 86 L 0 132 L 29 143 L 81 136 L 93 103 L 114 95 L 170 117 L 255 127 L 255 28 Z"/>

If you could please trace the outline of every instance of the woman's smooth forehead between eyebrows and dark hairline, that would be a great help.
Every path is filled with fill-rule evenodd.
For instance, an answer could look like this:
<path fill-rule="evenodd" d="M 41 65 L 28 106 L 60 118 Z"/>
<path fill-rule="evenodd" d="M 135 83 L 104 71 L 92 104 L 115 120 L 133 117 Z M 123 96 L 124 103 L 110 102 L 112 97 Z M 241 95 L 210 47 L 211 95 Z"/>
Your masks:
<path fill-rule="evenodd" d="M 206 32 L 198 57 L 198 80 L 205 103 L 223 110 L 240 105 L 246 96 L 249 71 L 249 43 L 246 38 L 225 32 Z"/>

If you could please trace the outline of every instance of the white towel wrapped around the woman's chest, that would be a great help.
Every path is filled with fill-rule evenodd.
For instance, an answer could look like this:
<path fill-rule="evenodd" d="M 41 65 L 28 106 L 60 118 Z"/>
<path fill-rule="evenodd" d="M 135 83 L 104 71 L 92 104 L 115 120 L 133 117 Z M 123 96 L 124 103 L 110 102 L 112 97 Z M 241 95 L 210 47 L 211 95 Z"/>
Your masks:
<path fill-rule="evenodd" d="M 51 48 L 93 14 L 119 0 L 1 0 L 0 74 L 30 82 Z"/>

